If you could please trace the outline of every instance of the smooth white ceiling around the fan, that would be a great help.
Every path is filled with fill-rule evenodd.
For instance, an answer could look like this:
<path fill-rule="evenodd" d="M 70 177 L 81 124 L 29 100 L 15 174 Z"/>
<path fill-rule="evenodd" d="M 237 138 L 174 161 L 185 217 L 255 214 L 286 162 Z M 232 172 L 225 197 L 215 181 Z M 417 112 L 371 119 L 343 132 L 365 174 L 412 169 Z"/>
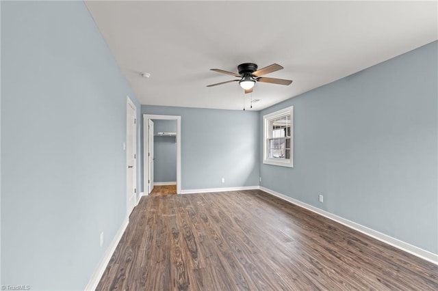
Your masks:
<path fill-rule="evenodd" d="M 438 39 L 437 1 L 86 1 L 142 105 L 241 110 L 235 79 L 254 62 L 261 110 Z M 144 79 L 140 72 L 149 72 Z M 414 76 L 413 76 L 414 77 Z M 246 107 L 250 94 L 246 94 Z"/>

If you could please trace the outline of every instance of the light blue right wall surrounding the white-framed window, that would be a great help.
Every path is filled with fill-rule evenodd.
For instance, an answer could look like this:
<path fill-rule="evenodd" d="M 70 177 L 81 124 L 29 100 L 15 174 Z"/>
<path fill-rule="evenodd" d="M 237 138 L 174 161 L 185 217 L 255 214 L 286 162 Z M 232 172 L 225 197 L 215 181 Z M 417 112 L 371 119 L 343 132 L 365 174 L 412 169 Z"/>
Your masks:
<path fill-rule="evenodd" d="M 261 186 L 438 253 L 437 51 L 433 42 L 261 111 L 260 126 L 294 105 L 295 122 L 294 168 L 261 163 Z"/>

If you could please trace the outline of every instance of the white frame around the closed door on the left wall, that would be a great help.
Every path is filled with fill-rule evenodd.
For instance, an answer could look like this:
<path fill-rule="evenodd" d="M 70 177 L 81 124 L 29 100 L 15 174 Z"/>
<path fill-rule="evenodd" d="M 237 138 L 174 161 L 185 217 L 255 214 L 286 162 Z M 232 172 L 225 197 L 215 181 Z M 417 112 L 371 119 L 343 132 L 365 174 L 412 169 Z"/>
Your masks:
<path fill-rule="evenodd" d="M 135 129 L 133 130 L 132 133 L 132 139 L 133 139 L 133 154 L 134 154 L 134 163 L 133 163 L 133 168 L 132 168 L 132 172 L 133 172 L 133 191 L 134 191 L 134 203 L 133 203 L 133 207 L 130 208 L 129 206 L 129 193 L 128 193 L 128 183 L 129 183 L 129 179 L 128 179 L 128 166 L 129 166 L 129 160 L 130 158 L 128 157 L 128 150 L 127 150 L 127 146 L 128 146 L 128 126 L 129 126 L 129 107 L 132 107 L 134 109 L 134 124 L 135 124 Z M 138 158 L 138 152 L 137 152 L 137 107 L 136 105 L 132 102 L 131 98 L 129 98 L 129 96 L 126 96 L 126 143 L 124 145 L 124 150 L 125 150 L 125 156 L 126 156 L 126 208 L 127 208 L 127 215 L 129 217 L 129 214 L 131 214 L 132 210 L 134 207 L 136 207 L 137 202 L 138 202 L 138 192 L 137 192 L 137 158 Z"/>

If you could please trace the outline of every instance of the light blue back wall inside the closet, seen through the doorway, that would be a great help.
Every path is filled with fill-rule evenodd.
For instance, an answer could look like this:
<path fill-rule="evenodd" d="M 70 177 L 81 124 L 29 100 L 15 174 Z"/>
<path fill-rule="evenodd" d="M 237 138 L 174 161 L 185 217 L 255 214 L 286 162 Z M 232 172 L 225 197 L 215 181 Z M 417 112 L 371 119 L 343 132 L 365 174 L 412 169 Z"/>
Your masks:
<path fill-rule="evenodd" d="M 154 133 L 176 133 L 176 120 L 153 120 Z M 154 137 L 153 164 L 154 182 L 177 181 L 177 143 L 176 137 Z"/>

